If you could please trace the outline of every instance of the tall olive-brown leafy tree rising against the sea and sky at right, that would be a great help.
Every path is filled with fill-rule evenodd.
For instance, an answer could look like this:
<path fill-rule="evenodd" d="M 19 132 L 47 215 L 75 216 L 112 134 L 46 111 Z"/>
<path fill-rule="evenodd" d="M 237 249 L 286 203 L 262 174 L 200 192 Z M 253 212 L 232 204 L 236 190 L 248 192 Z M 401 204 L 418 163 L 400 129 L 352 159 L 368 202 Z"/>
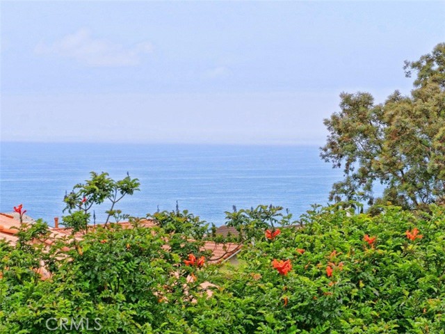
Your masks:
<path fill-rule="evenodd" d="M 321 157 L 345 176 L 330 200 L 406 209 L 445 202 L 445 43 L 403 68 L 406 77 L 416 73 L 409 96 L 396 90 L 374 104 L 369 93 L 341 93 L 341 111 L 324 120 Z M 385 186 L 381 198 L 375 182 Z"/>

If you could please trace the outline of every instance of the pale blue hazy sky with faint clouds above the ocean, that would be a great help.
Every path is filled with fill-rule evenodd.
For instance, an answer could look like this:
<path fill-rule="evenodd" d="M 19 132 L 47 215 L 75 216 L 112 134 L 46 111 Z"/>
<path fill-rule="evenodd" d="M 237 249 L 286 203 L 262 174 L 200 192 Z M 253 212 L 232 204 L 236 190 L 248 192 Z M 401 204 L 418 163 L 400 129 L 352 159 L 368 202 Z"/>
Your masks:
<path fill-rule="evenodd" d="M 445 40 L 445 1 L 0 6 L 2 141 L 321 144 Z"/>

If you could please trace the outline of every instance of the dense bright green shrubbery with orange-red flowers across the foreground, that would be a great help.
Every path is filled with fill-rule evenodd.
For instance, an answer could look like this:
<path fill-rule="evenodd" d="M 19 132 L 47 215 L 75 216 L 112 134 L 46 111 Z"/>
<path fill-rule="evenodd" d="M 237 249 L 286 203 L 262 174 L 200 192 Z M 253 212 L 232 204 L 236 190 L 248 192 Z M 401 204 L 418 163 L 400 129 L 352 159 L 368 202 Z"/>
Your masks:
<path fill-rule="evenodd" d="M 273 207 L 254 210 L 268 219 L 265 228 L 270 217 L 275 228 L 289 225 Z M 252 235 L 237 267 L 186 266 L 191 253 L 209 255 L 189 237 L 203 228 L 199 219 L 161 212 L 156 220 L 156 228 L 137 221 L 132 229 L 97 228 L 49 252 L 32 242 L 47 235 L 41 222 L 15 247 L 2 241 L 0 333 L 68 333 L 47 329 L 47 319 L 60 317 L 90 319 L 91 327 L 99 318 L 99 333 L 445 333 L 442 207 L 421 216 L 399 207 L 376 216 L 315 207 L 302 217 L 304 228 Z M 290 260 L 286 275 L 274 259 Z M 42 263 L 49 280 L 33 270 Z M 207 288 L 212 296 L 204 282 L 216 285 Z"/>

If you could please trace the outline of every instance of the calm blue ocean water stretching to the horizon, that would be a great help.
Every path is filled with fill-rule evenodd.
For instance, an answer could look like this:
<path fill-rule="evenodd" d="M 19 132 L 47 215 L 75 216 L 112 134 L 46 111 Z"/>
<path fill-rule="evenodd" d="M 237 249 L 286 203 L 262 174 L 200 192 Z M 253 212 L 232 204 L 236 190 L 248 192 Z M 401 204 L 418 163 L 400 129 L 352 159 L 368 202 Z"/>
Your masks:
<path fill-rule="evenodd" d="M 216 225 L 232 205 L 280 205 L 298 218 L 311 204 L 325 205 L 341 180 L 316 146 L 1 143 L 0 149 L 0 212 L 23 203 L 49 225 L 63 216 L 65 191 L 92 170 L 140 180 L 140 191 L 119 203 L 122 212 L 145 216 L 175 209 L 178 201 L 179 209 Z M 95 208 L 97 223 L 108 208 Z"/>

